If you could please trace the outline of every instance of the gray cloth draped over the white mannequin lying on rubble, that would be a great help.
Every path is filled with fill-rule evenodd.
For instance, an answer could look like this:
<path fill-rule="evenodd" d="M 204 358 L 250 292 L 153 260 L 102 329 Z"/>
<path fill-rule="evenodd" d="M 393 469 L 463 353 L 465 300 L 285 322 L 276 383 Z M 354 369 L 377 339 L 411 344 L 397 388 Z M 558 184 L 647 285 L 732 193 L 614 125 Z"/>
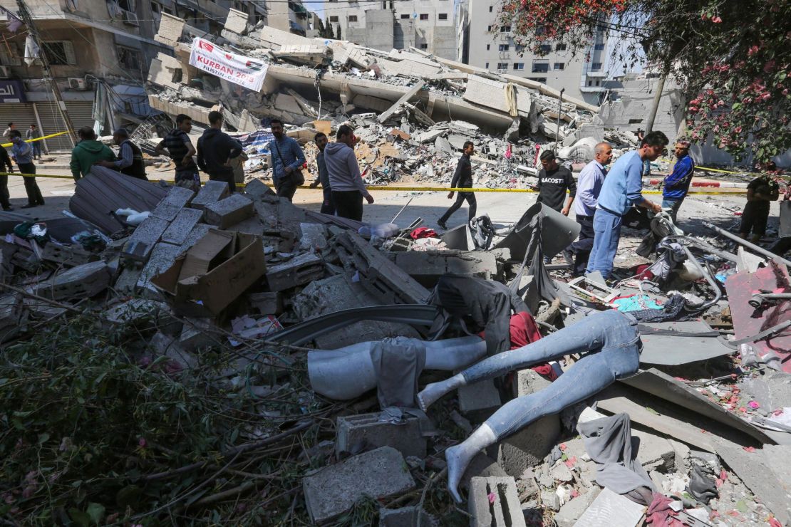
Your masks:
<path fill-rule="evenodd" d="M 371 347 L 380 408 L 418 408 L 418 377 L 426 366 L 426 346 L 406 337 L 384 339 Z"/>

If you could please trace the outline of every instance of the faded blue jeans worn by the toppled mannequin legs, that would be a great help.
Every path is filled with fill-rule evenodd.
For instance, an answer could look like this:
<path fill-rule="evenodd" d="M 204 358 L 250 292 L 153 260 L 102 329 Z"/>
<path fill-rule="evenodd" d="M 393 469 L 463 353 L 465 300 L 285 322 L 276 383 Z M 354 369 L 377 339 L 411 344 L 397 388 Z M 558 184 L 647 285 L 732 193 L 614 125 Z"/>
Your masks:
<path fill-rule="evenodd" d="M 584 401 L 619 378 L 633 375 L 640 366 L 641 349 L 634 317 L 615 310 L 601 311 L 522 348 L 483 359 L 462 375 L 472 383 L 571 353 L 583 355 L 550 386 L 505 403 L 486 420 L 499 440 L 543 416 Z"/>

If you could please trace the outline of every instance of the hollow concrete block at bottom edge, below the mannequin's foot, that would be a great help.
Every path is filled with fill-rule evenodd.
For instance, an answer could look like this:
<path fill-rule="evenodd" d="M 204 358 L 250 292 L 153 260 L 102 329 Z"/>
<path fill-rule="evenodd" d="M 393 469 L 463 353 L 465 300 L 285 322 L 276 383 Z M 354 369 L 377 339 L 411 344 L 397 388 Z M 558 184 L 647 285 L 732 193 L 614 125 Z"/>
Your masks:
<path fill-rule="evenodd" d="M 526 527 L 513 477 L 472 478 L 467 511 L 471 527 Z"/>

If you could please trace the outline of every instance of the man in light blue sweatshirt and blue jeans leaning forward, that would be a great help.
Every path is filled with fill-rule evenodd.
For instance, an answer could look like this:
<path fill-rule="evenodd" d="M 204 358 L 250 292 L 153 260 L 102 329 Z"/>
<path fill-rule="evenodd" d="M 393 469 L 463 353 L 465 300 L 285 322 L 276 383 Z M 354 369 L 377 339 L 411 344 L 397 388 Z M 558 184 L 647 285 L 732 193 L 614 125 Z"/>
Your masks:
<path fill-rule="evenodd" d="M 605 279 L 611 277 L 615 253 L 621 239 L 623 215 L 632 205 L 660 213 L 659 204 L 642 196 L 643 161 L 656 160 L 668 145 L 668 137 L 661 132 L 646 134 L 640 148 L 620 156 L 604 179 L 596 215 L 593 216 L 593 248 L 587 273 L 599 271 Z"/>

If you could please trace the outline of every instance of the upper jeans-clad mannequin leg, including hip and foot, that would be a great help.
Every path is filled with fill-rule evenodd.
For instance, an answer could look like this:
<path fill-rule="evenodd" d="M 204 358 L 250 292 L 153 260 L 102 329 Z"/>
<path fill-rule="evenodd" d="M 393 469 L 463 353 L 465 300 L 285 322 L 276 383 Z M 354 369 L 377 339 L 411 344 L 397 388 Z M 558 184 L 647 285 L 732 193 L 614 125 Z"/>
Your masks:
<path fill-rule="evenodd" d="M 445 381 L 433 382 L 418 393 L 418 402 L 425 412 L 426 408 L 445 393 L 461 386 L 499 377 L 533 364 L 560 359 L 572 353 L 627 346 L 639 340 L 637 321 L 633 317 L 615 310 L 602 311 L 539 341 L 483 359 Z"/>

